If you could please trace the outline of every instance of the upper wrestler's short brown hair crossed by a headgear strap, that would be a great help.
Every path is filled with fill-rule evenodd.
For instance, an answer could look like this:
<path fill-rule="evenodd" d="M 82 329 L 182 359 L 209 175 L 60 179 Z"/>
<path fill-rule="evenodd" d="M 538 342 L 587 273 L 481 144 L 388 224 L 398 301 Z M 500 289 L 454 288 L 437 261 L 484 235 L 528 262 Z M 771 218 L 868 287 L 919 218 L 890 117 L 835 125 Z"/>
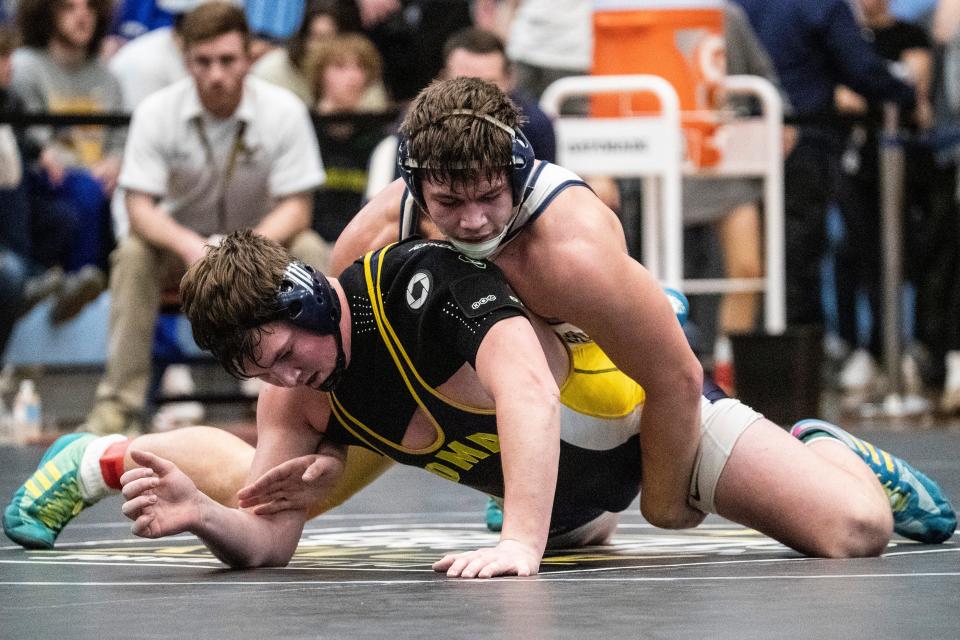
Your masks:
<path fill-rule="evenodd" d="M 417 178 L 454 188 L 493 180 L 512 164 L 511 136 L 468 109 L 517 129 L 520 110 L 495 84 L 478 78 L 435 80 L 421 91 L 400 125 Z"/>

